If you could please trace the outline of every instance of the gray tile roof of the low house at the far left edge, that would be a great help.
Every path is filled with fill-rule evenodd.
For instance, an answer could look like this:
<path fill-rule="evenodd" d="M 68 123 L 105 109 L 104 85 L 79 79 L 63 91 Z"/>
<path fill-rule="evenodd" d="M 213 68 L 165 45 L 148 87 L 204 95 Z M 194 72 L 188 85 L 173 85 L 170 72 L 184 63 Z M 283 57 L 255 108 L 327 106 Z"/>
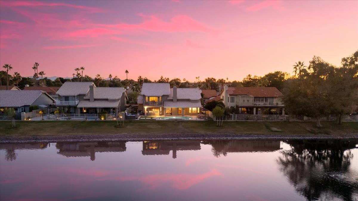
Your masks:
<path fill-rule="evenodd" d="M 43 93 L 55 101 L 50 95 L 41 90 L 1 90 L 0 107 L 31 106 Z"/>

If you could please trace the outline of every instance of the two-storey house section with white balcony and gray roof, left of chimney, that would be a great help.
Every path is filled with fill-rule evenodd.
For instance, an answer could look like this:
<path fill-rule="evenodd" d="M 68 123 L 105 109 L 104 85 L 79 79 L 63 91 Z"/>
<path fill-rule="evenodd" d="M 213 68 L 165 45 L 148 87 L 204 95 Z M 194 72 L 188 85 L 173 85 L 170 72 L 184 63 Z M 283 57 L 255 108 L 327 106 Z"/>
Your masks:
<path fill-rule="evenodd" d="M 56 93 L 58 95 L 56 106 L 62 108 L 67 113 L 80 113 L 77 105 L 86 96 L 91 85 L 94 86 L 95 84 L 93 82 L 63 83 Z"/>

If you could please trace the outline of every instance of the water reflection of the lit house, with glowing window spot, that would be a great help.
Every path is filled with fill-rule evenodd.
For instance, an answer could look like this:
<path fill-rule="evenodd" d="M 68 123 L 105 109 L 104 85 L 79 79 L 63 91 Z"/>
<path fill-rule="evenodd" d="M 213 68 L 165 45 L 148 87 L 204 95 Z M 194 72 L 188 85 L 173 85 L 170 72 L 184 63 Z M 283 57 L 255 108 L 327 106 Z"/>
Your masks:
<path fill-rule="evenodd" d="M 200 150 L 200 141 L 144 141 L 142 155 L 169 155 L 173 151 Z"/>

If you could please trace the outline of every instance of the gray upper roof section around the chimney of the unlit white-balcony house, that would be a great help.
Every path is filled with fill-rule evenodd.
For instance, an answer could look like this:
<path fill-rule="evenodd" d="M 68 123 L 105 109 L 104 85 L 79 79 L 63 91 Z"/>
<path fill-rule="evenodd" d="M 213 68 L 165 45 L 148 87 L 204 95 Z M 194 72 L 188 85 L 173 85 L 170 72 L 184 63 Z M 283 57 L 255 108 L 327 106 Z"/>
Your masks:
<path fill-rule="evenodd" d="M 94 87 L 93 95 L 95 99 L 117 100 L 122 97 L 125 91 L 126 89 L 123 87 Z M 89 92 L 84 98 L 89 99 Z"/>

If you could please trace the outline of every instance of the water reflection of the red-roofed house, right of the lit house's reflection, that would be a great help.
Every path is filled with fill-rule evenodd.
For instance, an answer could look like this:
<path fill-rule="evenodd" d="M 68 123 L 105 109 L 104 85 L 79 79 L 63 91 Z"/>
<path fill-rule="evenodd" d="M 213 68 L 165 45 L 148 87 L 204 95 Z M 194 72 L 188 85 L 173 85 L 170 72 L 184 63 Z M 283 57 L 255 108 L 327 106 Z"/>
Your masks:
<path fill-rule="evenodd" d="M 207 140 L 203 143 L 213 147 L 215 156 L 226 156 L 229 152 L 269 152 L 280 149 L 279 140 Z"/>

